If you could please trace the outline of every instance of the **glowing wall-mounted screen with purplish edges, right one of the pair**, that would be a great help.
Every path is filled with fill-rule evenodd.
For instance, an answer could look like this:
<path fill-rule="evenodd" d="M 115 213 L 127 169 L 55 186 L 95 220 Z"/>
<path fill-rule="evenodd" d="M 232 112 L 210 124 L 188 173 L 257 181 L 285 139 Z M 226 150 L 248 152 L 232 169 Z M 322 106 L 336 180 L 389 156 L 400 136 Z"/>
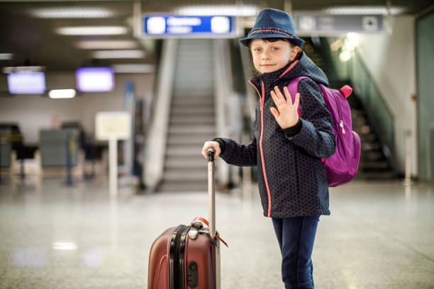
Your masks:
<path fill-rule="evenodd" d="M 82 92 L 113 91 L 115 87 L 111 67 L 80 67 L 75 71 L 75 81 Z"/>

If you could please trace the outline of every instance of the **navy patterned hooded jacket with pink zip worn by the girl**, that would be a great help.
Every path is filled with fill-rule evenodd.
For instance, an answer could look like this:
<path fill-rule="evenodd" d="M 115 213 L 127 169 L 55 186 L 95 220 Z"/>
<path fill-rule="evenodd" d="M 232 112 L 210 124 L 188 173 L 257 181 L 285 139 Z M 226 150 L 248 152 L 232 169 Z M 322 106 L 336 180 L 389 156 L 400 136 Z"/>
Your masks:
<path fill-rule="evenodd" d="M 299 82 L 299 123 L 282 130 L 269 111 L 271 106 L 276 107 L 270 91 L 277 85 L 283 94 L 284 86 L 301 76 L 313 81 Z M 327 176 L 321 158 L 330 157 L 336 143 L 330 113 L 316 84 L 328 86 L 327 77 L 303 52 L 299 61 L 249 82 L 260 97 L 252 140 L 248 145 L 240 145 L 219 138 L 222 159 L 235 166 L 257 166 L 265 216 L 330 215 Z"/>

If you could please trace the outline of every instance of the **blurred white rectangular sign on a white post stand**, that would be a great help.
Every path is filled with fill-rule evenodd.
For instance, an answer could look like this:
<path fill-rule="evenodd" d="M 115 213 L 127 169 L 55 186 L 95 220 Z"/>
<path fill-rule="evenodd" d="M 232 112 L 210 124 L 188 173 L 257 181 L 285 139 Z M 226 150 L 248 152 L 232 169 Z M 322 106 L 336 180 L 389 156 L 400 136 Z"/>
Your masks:
<path fill-rule="evenodd" d="M 109 141 L 109 192 L 118 194 L 118 140 L 131 137 L 131 115 L 126 111 L 96 113 L 96 140 Z"/>

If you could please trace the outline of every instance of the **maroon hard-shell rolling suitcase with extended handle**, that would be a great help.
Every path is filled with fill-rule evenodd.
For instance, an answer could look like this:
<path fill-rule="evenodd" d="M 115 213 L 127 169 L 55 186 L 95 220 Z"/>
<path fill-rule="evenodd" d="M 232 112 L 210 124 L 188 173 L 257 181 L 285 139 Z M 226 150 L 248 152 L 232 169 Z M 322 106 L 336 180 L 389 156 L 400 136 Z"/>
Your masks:
<path fill-rule="evenodd" d="M 215 231 L 212 149 L 208 149 L 208 198 L 209 225 L 196 217 L 189 226 L 167 229 L 152 244 L 148 289 L 220 289 L 221 239 Z"/>

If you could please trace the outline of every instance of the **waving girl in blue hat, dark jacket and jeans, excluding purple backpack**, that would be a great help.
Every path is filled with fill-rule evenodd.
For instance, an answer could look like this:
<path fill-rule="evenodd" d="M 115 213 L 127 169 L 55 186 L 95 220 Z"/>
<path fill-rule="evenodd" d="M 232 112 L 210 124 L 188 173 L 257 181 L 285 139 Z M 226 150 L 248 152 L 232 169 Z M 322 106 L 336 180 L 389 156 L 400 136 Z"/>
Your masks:
<path fill-rule="evenodd" d="M 205 142 L 202 154 L 213 147 L 236 166 L 257 166 L 264 215 L 272 218 L 282 251 L 285 288 L 312 288 L 311 254 L 320 215 L 328 210 L 328 183 L 321 158 L 335 152 L 335 136 L 317 83 L 328 79 L 300 47 L 291 16 L 276 9 L 262 10 L 247 38 L 258 77 L 250 79 L 260 101 L 252 140 L 240 145 L 216 138 Z M 292 103 L 286 86 L 295 77 L 299 93 Z M 283 89 L 283 94 L 282 94 Z M 297 108 L 301 105 L 301 115 Z"/>

